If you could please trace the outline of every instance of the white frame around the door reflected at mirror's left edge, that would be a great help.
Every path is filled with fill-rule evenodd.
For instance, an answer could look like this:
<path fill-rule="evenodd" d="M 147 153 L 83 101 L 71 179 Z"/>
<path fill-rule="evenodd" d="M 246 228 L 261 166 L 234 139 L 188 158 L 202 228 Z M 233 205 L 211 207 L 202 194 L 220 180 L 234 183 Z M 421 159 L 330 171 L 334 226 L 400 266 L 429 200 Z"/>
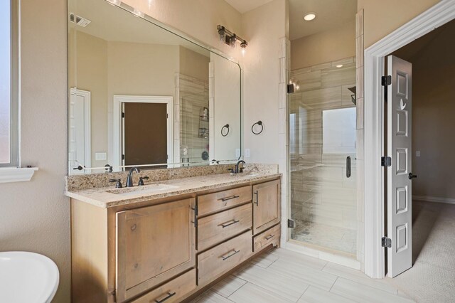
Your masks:
<path fill-rule="evenodd" d="M 84 97 L 84 163 L 85 167 L 92 166 L 92 128 L 91 128 L 91 92 L 88 90 L 80 90 L 77 87 L 70 88 L 70 103 L 72 95 L 81 95 Z M 68 117 L 70 119 L 70 117 Z M 70 139 L 68 139 L 68 142 Z M 69 147 L 68 147 L 69 152 Z M 90 174 L 90 169 L 85 169 L 83 174 Z M 70 166 L 68 159 L 68 175 L 74 174 L 73 167 Z"/>

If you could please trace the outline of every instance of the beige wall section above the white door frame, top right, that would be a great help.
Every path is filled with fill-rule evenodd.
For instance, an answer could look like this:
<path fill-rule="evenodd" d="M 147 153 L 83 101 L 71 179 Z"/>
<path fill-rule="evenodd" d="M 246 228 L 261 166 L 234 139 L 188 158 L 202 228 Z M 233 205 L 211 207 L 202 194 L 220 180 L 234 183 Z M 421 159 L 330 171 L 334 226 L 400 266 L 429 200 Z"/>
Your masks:
<path fill-rule="evenodd" d="M 365 48 L 422 14 L 439 0 L 358 0 L 364 10 Z"/>

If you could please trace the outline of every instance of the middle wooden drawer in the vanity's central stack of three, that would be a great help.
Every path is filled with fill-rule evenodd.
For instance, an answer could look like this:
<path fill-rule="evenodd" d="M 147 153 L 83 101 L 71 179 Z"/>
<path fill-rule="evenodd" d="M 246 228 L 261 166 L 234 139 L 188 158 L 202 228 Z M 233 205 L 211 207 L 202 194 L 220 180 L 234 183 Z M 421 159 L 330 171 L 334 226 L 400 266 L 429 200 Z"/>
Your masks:
<path fill-rule="evenodd" d="M 252 203 L 198 219 L 198 250 L 252 228 Z"/>

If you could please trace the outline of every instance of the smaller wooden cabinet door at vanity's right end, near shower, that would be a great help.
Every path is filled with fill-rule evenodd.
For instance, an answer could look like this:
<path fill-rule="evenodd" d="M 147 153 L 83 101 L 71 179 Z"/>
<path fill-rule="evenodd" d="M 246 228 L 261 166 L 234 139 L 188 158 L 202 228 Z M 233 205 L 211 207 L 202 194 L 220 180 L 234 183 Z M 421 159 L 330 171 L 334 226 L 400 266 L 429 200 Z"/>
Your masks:
<path fill-rule="evenodd" d="M 253 234 L 279 223 L 280 196 L 279 180 L 253 186 Z"/>

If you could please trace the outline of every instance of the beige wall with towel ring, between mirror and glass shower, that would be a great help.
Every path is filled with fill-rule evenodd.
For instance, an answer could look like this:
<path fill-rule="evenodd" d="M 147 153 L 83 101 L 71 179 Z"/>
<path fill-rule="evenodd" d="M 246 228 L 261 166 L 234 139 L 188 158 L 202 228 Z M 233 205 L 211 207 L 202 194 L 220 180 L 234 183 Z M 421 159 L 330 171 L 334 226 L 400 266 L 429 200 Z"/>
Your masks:
<path fill-rule="evenodd" d="M 287 1 L 274 0 L 242 16 L 248 40 L 244 68 L 244 142 L 251 158 L 245 161 L 276 164 L 279 159 L 279 83 L 280 38 L 287 37 Z M 283 87 L 284 88 L 284 87 Z M 285 117 L 282 117 L 285 119 Z M 264 132 L 252 134 L 252 124 L 261 120 Z M 282 121 L 285 123 L 285 120 Z M 285 168 L 284 168 L 285 171 Z"/>

